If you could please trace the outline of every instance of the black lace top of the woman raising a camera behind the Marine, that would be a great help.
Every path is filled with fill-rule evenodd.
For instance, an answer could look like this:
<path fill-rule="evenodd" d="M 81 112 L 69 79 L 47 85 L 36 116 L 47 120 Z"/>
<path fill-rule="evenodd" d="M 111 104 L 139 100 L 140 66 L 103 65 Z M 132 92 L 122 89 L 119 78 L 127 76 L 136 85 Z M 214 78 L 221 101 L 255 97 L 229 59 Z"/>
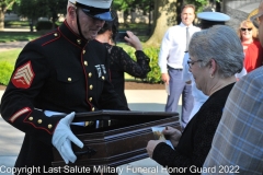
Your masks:
<path fill-rule="evenodd" d="M 110 52 L 110 69 L 112 84 L 115 91 L 121 95 L 123 102 L 128 106 L 126 96 L 124 94 L 124 72 L 135 77 L 145 79 L 147 73 L 150 71 L 150 59 L 145 55 L 144 51 L 135 51 L 137 62 L 134 61 L 129 55 L 118 46 L 112 46 L 104 44 Z"/>

